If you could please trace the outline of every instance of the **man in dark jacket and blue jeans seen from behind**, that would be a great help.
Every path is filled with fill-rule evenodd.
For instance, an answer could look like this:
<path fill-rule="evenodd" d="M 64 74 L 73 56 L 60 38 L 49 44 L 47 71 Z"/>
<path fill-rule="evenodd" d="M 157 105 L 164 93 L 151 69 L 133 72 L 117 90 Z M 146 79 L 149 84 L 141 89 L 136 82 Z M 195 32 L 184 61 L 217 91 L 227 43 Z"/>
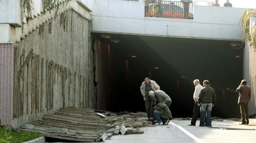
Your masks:
<path fill-rule="evenodd" d="M 209 81 L 204 80 L 204 88 L 201 89 L 199 98 L 198 98 L 198 106 L 201 104 L 200 108 L 200 125 L 201 127 L 212 126 L 211 112 L 214 103 L 216 102 L 216 94 L 212 87 L 209 86 Z M 206 116 L 206 121 L 205 121 Z M 204 124 L 205 123 L 205 124 Z"/>

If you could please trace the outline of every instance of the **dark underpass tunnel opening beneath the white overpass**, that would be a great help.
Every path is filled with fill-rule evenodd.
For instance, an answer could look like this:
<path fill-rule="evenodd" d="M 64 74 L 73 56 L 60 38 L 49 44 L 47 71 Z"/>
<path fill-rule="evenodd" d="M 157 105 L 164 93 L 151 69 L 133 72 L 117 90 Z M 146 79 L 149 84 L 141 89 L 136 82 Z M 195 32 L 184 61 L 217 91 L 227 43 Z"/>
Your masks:
<path fill-rule="evenodd" d="M 208 79 L 217 101 L 212 117 L 239 117 L 236 88 L 243 72 L 239 41 L 94 33 L 97 109 L 143 111 L 148 77 L 172 99 L 173 117 L 192 117 L 194 79 Z"/>

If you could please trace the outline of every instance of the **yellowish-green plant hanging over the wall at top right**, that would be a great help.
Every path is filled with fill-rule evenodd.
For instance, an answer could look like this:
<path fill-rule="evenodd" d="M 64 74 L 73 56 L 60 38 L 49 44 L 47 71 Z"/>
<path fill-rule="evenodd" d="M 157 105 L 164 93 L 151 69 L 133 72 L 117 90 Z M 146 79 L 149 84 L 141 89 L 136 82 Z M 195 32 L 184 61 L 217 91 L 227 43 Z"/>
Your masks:
<path fill-rule="evenodd" d="M 242 24 L 242 30 L 243 30 L 243 35 L 242 35 L 242 40 L 245 42 L 251 41 L 252 47 L 255 50 L 256 49 L 256 28 L 255 26 L 252 28 L 252 32 L 250 34 L 250 18 L 252 16 L 256 16 L 256 10 L 250 11 L 247 14 L 247 9 L 244 9 L 242 15 L 240 16 L 240 21 Z"/>

